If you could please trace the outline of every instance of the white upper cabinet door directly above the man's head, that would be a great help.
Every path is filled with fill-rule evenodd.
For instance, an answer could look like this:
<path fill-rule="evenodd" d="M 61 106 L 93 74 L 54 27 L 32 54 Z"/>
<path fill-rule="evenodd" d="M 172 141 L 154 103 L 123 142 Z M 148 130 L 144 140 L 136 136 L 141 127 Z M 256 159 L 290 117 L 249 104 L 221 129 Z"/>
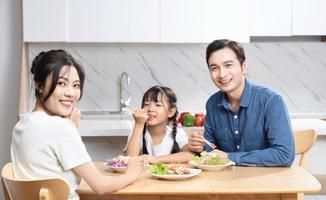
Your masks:
<path fill-rule="evenodd" d="M 249 0 L 204 0 L 204 42 L 249 42 Z"/>

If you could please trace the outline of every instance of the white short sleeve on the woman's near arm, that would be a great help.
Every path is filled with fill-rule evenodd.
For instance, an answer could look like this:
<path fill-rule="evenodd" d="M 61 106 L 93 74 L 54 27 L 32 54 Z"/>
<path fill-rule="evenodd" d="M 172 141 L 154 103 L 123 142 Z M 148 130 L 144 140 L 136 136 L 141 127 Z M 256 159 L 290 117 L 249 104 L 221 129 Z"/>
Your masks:
<path fill-rule="evenodd" d="M 91 161 L 86 147 L 74 124 L 62 121 L 56 133 L 54 152 L 65 170 Z"/>

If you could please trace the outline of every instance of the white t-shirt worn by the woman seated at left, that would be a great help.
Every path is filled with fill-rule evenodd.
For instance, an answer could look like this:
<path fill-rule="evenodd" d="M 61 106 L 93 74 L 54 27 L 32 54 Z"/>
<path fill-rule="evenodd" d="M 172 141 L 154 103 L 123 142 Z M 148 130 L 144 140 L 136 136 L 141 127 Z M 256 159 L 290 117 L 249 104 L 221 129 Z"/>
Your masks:
<path fill-rule="evenodd" d="M 73 122 L 45 112 L 25 113 L 12 134 L 14 175 L 22 179 L 61 177 L 70 185 L 69 199 L 79 199 L 80 183 L 72 168 L 91 161 Z"/>

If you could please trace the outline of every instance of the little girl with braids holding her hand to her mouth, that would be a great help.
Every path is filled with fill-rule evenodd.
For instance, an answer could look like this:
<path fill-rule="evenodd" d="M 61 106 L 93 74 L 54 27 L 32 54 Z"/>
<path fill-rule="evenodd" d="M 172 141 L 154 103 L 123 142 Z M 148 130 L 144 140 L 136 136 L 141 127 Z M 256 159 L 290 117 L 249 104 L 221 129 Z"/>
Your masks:
<path fill-rule="evenodd" d="M 142 109 L 134 113 L 135 126 L 128 138 L 125 153 L 144 156 L 149 163 L 188 162 L 188 137 L 177 128 L 177 99 L 168 87 L 154 86 L 146 91 Z M 171 125 L 170 127 L 169 125 Z"/>

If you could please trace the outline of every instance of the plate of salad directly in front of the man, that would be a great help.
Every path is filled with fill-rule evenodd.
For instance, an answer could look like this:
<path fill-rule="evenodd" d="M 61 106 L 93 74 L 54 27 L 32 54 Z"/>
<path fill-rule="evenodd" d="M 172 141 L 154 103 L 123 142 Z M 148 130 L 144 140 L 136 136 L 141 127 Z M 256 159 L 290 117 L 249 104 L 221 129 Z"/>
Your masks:
<path fill-rule="evenodd" d="M 218 171 L 230 165 L 234 165 L 234 162 L 229 159 L 222 159 L 217 152 L 203 151 L 200 156 L 193 157 L 189 164 L 206 171 Z"/>

